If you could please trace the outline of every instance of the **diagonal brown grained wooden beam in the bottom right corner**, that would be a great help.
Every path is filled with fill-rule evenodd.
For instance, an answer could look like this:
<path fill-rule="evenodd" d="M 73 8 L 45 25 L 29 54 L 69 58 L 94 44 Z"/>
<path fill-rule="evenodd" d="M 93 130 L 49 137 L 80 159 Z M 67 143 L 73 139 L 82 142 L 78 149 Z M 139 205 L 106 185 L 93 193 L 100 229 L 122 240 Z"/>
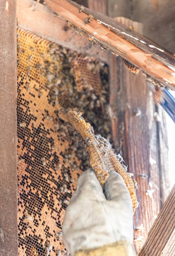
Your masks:
<path fill-rule="evenodd" d="M 175 185 L 158 214 L 139 256 L 170 256 L 175 252 Z"/>

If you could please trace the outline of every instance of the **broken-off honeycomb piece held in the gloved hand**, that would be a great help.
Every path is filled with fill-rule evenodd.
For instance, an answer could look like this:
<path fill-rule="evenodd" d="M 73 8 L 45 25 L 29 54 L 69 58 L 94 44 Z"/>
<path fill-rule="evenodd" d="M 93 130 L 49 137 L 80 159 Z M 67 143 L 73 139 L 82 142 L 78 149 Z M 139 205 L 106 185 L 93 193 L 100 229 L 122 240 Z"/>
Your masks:
<path fill-rule="evenodd" d="M 105 138 L 100 135 L 94 135 L 91 132 L 90 123 L 85 122 L 81 113 L 77 113 L 70 109 L 66 112 L 66 119 L 73 125 L 75 130 L 80 133 L 84 140 L 84 146 L 89 153 L 90 165 L 95 170 L 96 176 L 102 186 L 105 184 L 109 177 L 110 171 L 116 171 L 119 173 L 125 184 L 130 191 L 130 196 L 133 203 L 133 214 L 138 206 L 136 196 L 136 182 L 133 180 L 126 169 L 121 164 L 119 156 L 112 150 L 111 144 Z"/>

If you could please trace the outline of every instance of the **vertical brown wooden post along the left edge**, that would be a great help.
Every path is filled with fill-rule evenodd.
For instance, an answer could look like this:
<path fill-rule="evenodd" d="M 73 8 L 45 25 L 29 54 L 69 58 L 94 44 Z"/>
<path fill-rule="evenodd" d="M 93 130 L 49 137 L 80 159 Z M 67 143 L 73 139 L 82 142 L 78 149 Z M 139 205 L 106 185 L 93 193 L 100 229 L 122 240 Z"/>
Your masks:
<path fill-rule="evenodd" d="M 0 1 L 0 256 L 18 255 L 16 1 Z"/>

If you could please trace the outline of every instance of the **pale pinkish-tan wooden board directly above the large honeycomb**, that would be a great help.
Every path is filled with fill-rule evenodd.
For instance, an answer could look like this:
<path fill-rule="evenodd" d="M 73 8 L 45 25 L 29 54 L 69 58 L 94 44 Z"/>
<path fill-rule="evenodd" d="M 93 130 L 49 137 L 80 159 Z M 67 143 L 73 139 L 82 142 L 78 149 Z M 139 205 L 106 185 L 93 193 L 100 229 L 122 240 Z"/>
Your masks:
<path fill-rule="evenodd" d="M 18 26 L 47 40 L 107 62 L 108 53 L 75 33 L 63 18 L 34 0 L 17 0 Z M 34 10 L 34 11 L 33 11 Z M 51 29 L 52 28 L 52 29 Z"/>

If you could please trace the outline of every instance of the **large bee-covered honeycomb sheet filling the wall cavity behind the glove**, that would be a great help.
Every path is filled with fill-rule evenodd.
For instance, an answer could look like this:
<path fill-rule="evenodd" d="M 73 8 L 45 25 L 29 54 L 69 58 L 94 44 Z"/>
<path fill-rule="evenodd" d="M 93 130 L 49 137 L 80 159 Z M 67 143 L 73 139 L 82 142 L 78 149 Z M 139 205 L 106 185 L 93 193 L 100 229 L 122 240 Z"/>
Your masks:
<path fill-rule="evenodd" d="M 81 137 L 60 118 L 60 106 L 82 112 L 110 141 L 108 67 L 20 28 L 17 38 L 18 252 L 66 256 L 63 216 L 90 163 Z M 76 72 L 82 61 L 81 88 Z"/>

